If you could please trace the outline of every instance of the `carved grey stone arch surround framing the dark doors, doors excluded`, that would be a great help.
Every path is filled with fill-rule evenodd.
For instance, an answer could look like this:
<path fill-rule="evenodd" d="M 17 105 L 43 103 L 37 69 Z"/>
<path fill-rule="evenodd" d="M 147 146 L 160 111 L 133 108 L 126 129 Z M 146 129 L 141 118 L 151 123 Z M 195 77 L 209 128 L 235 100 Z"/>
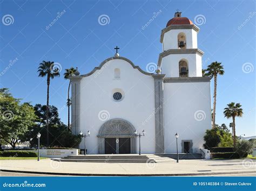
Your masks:
<path fill-rule="evenodd" d="M 110 119 L 99 129 L 98 150 L 99 154 L 105 154 L 105 139 L 116 138 L 116 153 L 119 153 L 119 138 L 130 139 L 130 152 L 136 153 L 136 136 L 134 136 L 134 126 L 124 119 Z"/>

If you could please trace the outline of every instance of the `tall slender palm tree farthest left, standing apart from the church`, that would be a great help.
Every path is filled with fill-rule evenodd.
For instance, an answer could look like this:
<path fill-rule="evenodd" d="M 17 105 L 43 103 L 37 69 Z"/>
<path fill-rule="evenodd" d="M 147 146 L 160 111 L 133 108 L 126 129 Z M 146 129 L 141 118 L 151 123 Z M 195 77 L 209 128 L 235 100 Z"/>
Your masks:
<path fill-rule="evenodd" d="M 43 61 L 39 64 L 38 70 L 39 77 L 47 77 L 47 103 L 46 103 L 46 146 L 49 146 L 49 87 L 50 79 L 59 76 L 59 69 L 54 67 L 54 62 Z"/>

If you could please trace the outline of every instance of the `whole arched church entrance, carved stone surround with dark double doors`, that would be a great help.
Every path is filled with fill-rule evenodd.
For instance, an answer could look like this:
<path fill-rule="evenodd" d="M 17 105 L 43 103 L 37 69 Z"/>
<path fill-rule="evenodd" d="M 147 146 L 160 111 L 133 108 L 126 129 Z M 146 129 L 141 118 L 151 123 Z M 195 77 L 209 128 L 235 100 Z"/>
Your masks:
<path fill-rule="evenodd" d="M 124 119 L 110 119 L 99 129 L 99 154 L 136 153 L 135 128 Z"/>

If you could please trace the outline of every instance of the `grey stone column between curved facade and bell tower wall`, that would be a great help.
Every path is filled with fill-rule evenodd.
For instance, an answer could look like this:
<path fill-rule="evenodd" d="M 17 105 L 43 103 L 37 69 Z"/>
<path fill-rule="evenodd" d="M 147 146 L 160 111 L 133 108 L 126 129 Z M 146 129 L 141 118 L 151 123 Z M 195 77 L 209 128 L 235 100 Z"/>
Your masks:
<path fill-rule="evenodd" d="M 153 74 L 154 78 L 154 107 L 156 126 L 156 153 L 164 153 L 164 76 Z"/>

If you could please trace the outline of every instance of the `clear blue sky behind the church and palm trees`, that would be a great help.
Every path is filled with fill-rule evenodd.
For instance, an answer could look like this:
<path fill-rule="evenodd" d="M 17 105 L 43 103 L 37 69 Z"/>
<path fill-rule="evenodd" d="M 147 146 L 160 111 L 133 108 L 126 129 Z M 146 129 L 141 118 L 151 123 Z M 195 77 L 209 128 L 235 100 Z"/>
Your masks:
<path fill-rule="evenodd" d="M 0 0 L 0 7 L 0 86 L 23 102 L 45 104 L 46 81 L 37 77 L 37 67 L 42 60 L 60 63 L 61 76 L 51 81 L 50 104 L 62 110 L 64 123 L 69 83 L 63 79 L 65 68 L 90 72 L 113 56 L 118 45 L 120 55 L 146 70 L 147 63 L 157 63 L 161 30 L 177 9 L 192 22 L 203 15 L 198 25 L 203 67 L 217 60 L 225 68 L 225 75 L 218 77 L 216 123 L 228 125 L 231 120 L 224 118 L 223 109 L 239 102 L 244 117 L 237 119 L 237 135 L 255 135 L 255 1 Z M 11 20 L 3 19 L 6 15 Z M 102 15 L 109 17 L 107 23 L 98 22 Z"/>

